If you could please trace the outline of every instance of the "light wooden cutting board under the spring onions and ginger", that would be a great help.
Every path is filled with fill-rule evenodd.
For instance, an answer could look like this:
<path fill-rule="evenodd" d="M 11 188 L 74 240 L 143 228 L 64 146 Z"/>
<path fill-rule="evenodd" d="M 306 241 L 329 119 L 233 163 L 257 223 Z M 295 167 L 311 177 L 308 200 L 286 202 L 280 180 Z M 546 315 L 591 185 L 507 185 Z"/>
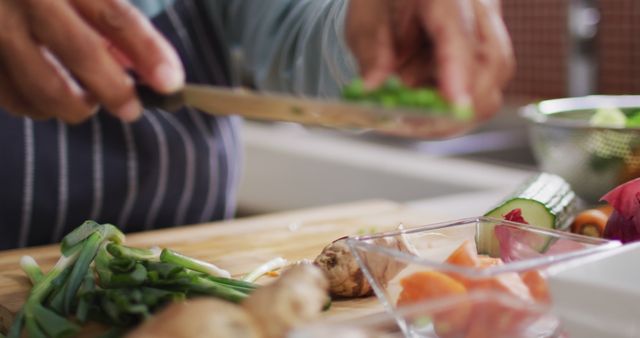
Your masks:
<path fill-rule="evenodd" d="M 290 261 L 314 259 L 336 238 L 358 231 L 381 231 L 447 219 L 433 210 L 413 209 L 374 200 L 266 216 L 207 223 L 127 235 L 136 247 L 167 247 L 210 261 L 234 276 L 282 256 Z M 60 256 L 57 245 L 0 252 L 0 332 L 10 326 L 30 284 L 20 270 L 23 255 L 33 256 L 47 271 Z M 268 282 L 263 277 L 261 282 Z M 357 317 L 382 311 L 375 297 L 334 302 L 326 317 Z"/>

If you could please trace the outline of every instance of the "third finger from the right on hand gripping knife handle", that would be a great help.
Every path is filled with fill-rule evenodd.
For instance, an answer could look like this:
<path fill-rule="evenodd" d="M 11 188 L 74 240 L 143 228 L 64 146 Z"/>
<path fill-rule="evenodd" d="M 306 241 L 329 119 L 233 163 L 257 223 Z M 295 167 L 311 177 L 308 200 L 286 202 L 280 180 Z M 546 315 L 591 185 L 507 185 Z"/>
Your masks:
<path fill-rule="evenodd" d="M 90 101 L 70 78 L 57 69 L 27 31 L 26 21 L 15 2 L 9 11 L 11 29 L 0 31 L 0 63 L 6 83 L 11 84 L 11 96 L 18 104 L 18 113 L 37 117 L 59 117 L 68 122 L 80 122 L 92 113 Z M 7 8 L 8 9 L 8 8 Z M 8 100 L 5 98 L 5 100 Z"/>

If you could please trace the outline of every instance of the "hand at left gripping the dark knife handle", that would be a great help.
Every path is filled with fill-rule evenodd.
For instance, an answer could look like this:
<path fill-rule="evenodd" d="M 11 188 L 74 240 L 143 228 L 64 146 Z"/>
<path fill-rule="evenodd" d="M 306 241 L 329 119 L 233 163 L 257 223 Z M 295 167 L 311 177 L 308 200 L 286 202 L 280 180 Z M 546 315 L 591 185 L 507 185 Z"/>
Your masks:
<path fill-rule="evenodd" d="M 78 123 L 101 104 L 131 121 L 142 107 L 127 68 L 162 93 L 184 83 L 174 49 L 128 1 L 0 1 L 0 107 Z"/>

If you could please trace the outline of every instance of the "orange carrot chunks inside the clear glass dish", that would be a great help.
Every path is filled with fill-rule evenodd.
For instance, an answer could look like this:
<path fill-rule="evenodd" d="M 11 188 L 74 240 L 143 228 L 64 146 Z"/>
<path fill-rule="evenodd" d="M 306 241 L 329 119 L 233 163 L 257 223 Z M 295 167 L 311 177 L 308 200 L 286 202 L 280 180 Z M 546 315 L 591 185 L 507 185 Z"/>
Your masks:
<path fill-rule="evenodd" d="M 486 269 L 504 264 L 500 258 L 478 255 L 472 241 L 465 241 L 447 258 L 446 263 Z M 476 290 L 506 293 L 527 303 L 547 303 L 549 289 L 538 270 L 501 273 L 491 277 L 471 278 L 457 273 L 419 271 L 404 277 L 397 305 L 434 300 L 444 296 L 460 296 Z M 535 319 L 526 309 L 513 309 L 499 302 L 473 304 L 460 302 L 450 309 L 433 314 L 438 337 L 511 337 Z"/>

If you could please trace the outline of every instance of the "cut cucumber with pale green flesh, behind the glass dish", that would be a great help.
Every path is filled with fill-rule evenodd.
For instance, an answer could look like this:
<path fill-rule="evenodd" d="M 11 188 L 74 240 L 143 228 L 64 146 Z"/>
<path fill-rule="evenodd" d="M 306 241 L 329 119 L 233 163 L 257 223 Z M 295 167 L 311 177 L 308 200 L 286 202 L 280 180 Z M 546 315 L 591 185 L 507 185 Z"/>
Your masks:
<path fill-rule="evenodd" d="M 542 173 L 520 186 L 485 216 L 504 219 L 512 210 L 520 209 L 524 220 L 531 225 L 547 229 L 566 229 L 571 224 L 576 203 L 576 195 L 564 179 Z M 476 245 L 481 254 L 493 257 L 500 255 L 493 226 L 478 229 Z M 548 245 L 548 241 L 545 241 L 536 249 L 542 252 Z"/>

